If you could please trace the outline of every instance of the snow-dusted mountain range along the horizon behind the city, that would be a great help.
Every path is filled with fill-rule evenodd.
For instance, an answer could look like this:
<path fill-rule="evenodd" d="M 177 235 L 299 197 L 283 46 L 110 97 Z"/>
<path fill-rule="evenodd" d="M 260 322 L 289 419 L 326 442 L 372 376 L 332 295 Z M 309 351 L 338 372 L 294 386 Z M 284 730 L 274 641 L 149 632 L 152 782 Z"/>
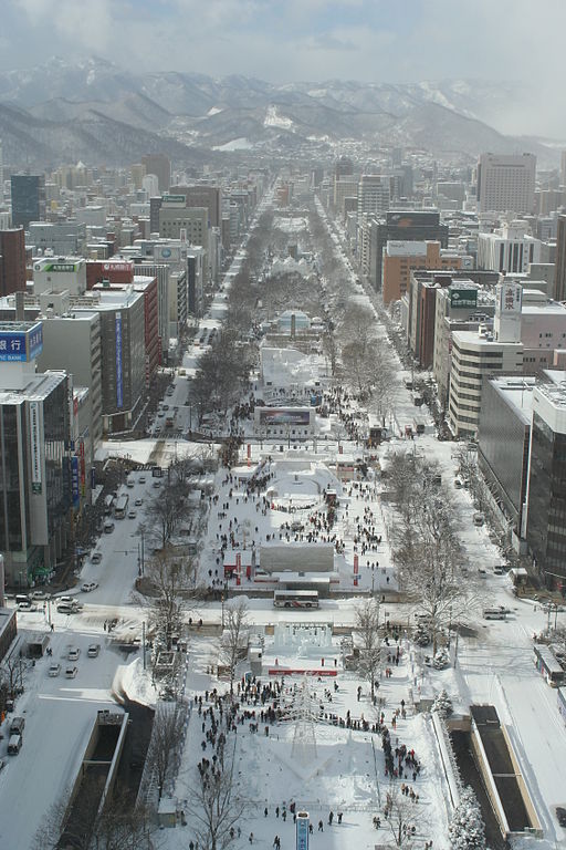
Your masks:
<path fill-rule="evenodd" d="M 552 143 L 506 136 L 491 125 L 521 99 L 513 83 L 276 85 L 238 75 L 132 73 L 97 58 L 54 58 L 0 72 L 0 136 L 4 162 L 18 167 L 77 159 L 124 165 L 151 151 L 190 165 L 210 159 L 211 151 L 331 153 L 345 139 L 470 159 L 482 151 L 528 149 L 554 164 Z"/>

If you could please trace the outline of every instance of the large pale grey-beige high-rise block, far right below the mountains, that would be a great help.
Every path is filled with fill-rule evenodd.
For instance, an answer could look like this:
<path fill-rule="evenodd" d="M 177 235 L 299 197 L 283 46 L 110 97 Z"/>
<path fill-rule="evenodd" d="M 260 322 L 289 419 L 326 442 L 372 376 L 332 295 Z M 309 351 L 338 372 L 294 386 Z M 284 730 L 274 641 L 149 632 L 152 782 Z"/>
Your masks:
<path fill-rule="evenodd" d="M 482 154 L 478 163 L 478 211 L 534 212 L 534 154 Z"/>

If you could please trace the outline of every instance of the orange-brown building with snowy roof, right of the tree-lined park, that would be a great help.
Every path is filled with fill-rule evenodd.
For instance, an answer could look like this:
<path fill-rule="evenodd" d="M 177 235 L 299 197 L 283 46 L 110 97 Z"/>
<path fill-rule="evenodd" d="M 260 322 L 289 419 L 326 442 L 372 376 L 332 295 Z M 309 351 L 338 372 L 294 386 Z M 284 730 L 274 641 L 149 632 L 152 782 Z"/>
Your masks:
<path fill-rule="evenodd" d="M 388 241 L 382 252 L 384 304 L 398 301 L 407 292 L 413 269 L 460 269 L 462 259 L 443 251 L 440 242 Z"/>

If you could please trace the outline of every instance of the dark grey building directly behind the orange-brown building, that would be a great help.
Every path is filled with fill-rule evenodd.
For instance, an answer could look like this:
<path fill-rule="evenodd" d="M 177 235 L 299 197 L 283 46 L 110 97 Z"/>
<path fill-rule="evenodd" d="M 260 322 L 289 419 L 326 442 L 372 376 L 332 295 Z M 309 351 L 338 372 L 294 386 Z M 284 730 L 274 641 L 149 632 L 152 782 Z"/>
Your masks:
<path fill-rule="evenodd" d="M 440 242 L 448 248 L 448 225 L 438 210 L 389 210 L 385 218 L 370 218 L 364 273 L 375 289 L 381 288 L 382 253 L 388 241 Z"/>

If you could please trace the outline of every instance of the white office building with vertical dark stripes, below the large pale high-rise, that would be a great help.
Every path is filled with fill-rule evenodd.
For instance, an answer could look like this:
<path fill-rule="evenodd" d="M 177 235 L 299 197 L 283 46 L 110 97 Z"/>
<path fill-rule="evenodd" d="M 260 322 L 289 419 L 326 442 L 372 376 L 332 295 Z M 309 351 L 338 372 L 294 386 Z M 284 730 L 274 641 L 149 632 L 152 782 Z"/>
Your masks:
<path fill-rule="evenodd" d="M 541 241 L 525 234 L 525 222 L 514 221 L 493 234 L 478 236 L 478 268 L 506 273 L 526 273 L 541 262 Z"/>

